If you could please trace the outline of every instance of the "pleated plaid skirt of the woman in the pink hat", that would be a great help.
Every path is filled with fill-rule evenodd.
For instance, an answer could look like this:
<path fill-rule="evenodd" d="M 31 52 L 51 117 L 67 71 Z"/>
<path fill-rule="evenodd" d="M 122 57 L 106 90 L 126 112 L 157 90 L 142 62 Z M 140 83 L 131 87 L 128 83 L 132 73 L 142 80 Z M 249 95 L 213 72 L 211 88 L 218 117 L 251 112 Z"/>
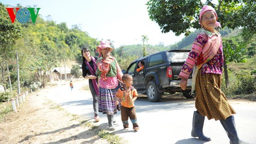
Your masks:
<path fill-rule="evenodd" d="M 114 115 L 117 113 L 115 98 L 119 87 L 119 85 L 115 89 L 104 89 L 100 87 L 98 96 L 99 112 L 107 115 Z"/>

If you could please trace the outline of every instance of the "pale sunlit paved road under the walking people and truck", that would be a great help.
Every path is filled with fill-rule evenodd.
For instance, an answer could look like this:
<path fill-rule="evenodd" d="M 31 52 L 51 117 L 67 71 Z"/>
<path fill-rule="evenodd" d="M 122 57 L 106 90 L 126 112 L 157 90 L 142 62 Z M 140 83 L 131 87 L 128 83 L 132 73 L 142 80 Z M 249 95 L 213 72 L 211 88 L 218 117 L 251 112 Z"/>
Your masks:
<path fill-rule="evenodd" d="M 83 119 L 94 121 L 92 95 L 90 91 L 80 88 L 87 85 L 86 80 L 74 82 L 74 89 L 71 92 L 68 83 L 54 89 L 44 89 L 47 97 L 55 101 L 72 114 L 81 116 Z M 51 91 L 51 94 L 49 94 Z M 236 127 L 239 137 L 247 142 L 256 144 L 256 102 L 229 100 L 236 110 Z M 190 136 L 191 123 L 195 100 L 163 98 L 161 102 L 148 102 L 146 97 L 139 97 L 135 101 L 137 118 L 140 126 L 138 132 L 132 130 L 123 131 L 120 112 L 114 117 L 117 120 L 116 130 L 113 133 L 126 139 L 129 143 L 214 143 L 226 144 L 229 139 L 219 121 L 205 120 L 204 134 L 212 138 L 212 141 L 205 142 Z M 107 127 L 107 116 L 100 114 L 100 122 L 95 123 Z"/>

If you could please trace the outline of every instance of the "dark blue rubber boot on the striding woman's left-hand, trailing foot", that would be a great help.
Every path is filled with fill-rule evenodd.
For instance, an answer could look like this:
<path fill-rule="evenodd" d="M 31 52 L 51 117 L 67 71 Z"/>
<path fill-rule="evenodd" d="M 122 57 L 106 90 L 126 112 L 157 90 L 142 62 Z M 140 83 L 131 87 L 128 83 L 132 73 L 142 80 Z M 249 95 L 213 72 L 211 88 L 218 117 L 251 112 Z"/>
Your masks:
<path fill-rule="evenodd" d="M 198 137 L 204 141 L 211 141 L 211 138 L 205 137 L 203 133 L 204 116 L 194 111 L 193 124 L 192 124 L 191 137 Z"/>

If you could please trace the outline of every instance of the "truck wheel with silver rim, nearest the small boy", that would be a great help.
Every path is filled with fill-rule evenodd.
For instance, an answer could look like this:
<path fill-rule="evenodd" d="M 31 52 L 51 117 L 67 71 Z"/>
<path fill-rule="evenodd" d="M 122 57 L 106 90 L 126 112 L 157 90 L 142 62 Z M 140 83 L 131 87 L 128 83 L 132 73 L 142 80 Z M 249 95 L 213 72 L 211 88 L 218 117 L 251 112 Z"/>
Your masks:
<path fill-rule="evenodd" d="M 158 102 L 162 98 L 162 94 L 157 91 L 155 81 L 148 83 L 146 92 L 150 102 Z"/>

